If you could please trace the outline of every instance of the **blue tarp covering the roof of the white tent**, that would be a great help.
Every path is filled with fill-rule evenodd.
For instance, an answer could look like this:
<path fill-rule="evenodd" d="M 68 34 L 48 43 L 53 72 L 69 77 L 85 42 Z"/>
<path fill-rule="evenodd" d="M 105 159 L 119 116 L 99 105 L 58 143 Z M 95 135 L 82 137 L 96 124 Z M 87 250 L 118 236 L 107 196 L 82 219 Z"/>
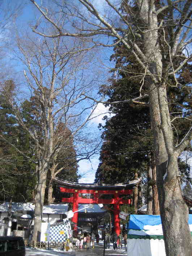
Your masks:
<path fill-rule="evenodd" d="M 192 214 L 189 214 L 189 225 L 192 224 Z M 161 225 L 161 216 L 160 215 L 136 215 L 131 214 L 129 220 L 128 229 L 138 229 L 143 230 L 144 226 L 150 225 Z"/>

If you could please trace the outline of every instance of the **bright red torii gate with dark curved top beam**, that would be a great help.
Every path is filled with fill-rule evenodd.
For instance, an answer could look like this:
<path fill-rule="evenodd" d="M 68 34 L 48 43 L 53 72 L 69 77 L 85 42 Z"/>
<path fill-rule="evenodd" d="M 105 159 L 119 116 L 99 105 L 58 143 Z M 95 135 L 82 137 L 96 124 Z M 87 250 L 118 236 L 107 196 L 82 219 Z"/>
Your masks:
<path fill-rule="evenodd" d="M 140 179 L 133 180 L 127 184 L 94 184 L 94 183 L 75 183 L 55 178 L 55 182 L 60 184 L 61 193 L 72 193 L 69 198 L 62 198 L 62 202 L 73 203 L 72 211 L 75 212 L 72 221 L 78 222 L 78 204 L 113 204 L 114 227 L 117 235 L 120 234 L 120 204 L 131 204 L 131 199 L 123 200 L 122 195 L 131 195 L 133 187 L 135 187 Z M 79 194 L 92 194 L 93 199 L 85 199 Z M 102 195 L 112 195 L 112 199 L 102 199 Z"/>

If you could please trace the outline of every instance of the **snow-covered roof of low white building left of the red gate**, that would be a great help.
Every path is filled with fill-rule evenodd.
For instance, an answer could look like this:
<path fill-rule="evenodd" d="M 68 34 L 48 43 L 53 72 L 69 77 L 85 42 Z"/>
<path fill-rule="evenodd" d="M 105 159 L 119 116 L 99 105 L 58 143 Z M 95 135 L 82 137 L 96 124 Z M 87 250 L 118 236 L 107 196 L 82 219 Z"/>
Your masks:
<path fill-rule="evenodd" d="M 4 202 L 0 204 L 0 212 L 8 212 L 9 202 Z M 33 203 L 21 203 L 21 202 L 12 202 L 12 212 L 16 211 L 34 211 L 35 205 Z M 51 204 L 43 206 L 43 213 L 49 214 L 63 214 L 68 211 L 68 204 Z"/>

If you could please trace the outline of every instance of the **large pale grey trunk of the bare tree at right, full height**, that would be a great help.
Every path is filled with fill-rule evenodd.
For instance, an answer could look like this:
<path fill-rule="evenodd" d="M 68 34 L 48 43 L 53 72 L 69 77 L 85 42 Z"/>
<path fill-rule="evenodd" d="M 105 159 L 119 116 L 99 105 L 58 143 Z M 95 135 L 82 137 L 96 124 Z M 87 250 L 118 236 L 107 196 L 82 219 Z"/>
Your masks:
<path fill-rule="evenodd" d="M 145 56 L 154 76 L 148 76 L 149 106 L 152 123 L 159 205 L 167 256 L 191 256 L 192 240 L 188 226 L 188 209 L 178 178 L 177 156 L 168 111 L 166 85 L 162 77 L 162 55 L 158 45 L 158 21 L 154 5 L 139 1 L 140 17 L 148 32 L 144 33 Z M 154 10 L 154 11 L 153 11 Z M 182 235 L 181 235 L 182 232 Z"/>

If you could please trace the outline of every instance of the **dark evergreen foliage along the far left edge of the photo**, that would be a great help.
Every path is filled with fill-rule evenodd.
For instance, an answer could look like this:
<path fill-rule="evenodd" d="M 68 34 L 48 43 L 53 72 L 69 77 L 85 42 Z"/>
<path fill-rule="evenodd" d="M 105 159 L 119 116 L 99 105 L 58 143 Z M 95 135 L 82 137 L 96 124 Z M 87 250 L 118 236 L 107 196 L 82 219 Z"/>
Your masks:
<path fill-rule="evenodd" d="M 14 87 L 12 80 L 5 82 L 8 94 L 14 94 Z M 29 135 L 18 125 L 14 112 L 3 94 L 0 94 L 0 130 L 6 140 L 33 158 Z M 33 162 L 0 138 L 0 201 L 9 200 L 10 197 L 16 202 L 32 200 L 34 170 Z"/>

